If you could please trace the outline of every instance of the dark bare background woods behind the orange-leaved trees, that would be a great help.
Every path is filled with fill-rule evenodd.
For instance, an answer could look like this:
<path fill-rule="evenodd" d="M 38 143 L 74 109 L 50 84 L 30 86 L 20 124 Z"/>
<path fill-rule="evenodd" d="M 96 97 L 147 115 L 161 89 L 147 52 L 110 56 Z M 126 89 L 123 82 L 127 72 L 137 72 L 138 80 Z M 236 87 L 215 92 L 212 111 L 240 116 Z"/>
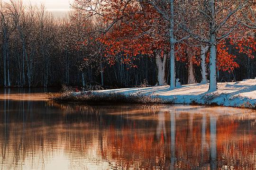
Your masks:
<path fill-rule="evenodd" d="M 154 57 L 138 55 L 128 64 L 120 54 L 115 56 L 114 64 L 110 64 L 110 59 L 103 55 L 102 44 L 94 41 L 97 35 L 93 31 L 99 27 L 101 23 L 75 11 L 69 17 L 56 19 L 43 5 L 25 6 L 19 0 L 1 3 L 0 86 L 157 84 Z M 235 61 L 239 68 L 232 72 L 219 71 L 219 82 L 255 78 L 256 58 L 248 58 L 235 48 L 229 49 L 237 56 Z M 168 62 L 167 59 L 167 82 Z M 200 82 L 201 67 L 194 64 L 193 68 L 195 79 Z M 182 84 L 188 83 L 186 61 L 176 61 L 176 74 Z"/>

